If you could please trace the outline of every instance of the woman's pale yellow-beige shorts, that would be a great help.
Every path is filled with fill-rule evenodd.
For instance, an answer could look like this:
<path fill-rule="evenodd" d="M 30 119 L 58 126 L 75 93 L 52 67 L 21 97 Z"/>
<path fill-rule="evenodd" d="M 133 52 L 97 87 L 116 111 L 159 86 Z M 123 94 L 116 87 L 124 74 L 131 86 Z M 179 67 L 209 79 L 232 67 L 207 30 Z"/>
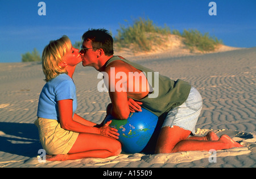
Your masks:
<path fill-rule="evenodd" d="M 34 123 L 38 127 L 40 142 L 48 155 L 68 154 L 79 135 L 61 128 L 57 120 L 38 118 Z"/>

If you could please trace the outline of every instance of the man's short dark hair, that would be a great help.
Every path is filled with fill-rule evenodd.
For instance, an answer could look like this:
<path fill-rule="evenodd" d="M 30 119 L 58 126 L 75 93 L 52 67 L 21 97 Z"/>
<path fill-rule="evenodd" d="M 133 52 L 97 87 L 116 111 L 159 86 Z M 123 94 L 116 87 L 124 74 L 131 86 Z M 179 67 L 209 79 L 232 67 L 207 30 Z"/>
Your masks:
<path fill-rule="evenodd" d="M 113 37 L 104 28 L 89 29 L 82 35 L 82 40 L 91 40 L 93 50 L 103 49 L 106 56 L 112 56 L 114 54 Z"/>

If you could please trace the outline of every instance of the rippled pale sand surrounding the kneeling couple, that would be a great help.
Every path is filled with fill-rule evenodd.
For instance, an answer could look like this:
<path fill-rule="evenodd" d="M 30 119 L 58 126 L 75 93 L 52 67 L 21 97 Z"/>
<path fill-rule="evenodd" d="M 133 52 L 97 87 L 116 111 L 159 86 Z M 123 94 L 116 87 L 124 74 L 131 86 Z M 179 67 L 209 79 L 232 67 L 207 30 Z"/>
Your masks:
<path fill-rule="evenodd" d="M 188 151 L 39 163 L 36 156 L 42 146 L 33 122 L 44 86 L 42 65 L 0 63 L 0 167 L 256 167 L 256 48 L 230 50 L 184 56 L 163 52 L 128 59 L 171 79 L 186 80 L 200 91 L 204 106 L 197 135 L 213 130 L 219 136 L 228 134 L 245 147 L 216 151 L 215 158 L 208 151 Z M 79 64 L 74 80 L 77 114 L 100 123 L 110 100 L 108 93 L 97 91 L 97 74 L 92 67 Z"/>

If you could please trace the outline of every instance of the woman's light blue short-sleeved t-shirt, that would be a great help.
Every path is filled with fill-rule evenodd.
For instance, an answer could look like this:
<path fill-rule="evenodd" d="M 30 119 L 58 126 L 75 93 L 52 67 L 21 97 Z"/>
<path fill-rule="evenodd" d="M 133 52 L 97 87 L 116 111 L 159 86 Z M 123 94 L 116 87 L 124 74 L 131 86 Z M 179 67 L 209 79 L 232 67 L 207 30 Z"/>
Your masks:
<path fill-rule="evenodd" d="M 60 74 L 47 82 L 40 93 L 38 117 L 59 120 L 57 101 L 73 100 L 73 114 L 77 108 L 76 86 L 67 74 Z"/>

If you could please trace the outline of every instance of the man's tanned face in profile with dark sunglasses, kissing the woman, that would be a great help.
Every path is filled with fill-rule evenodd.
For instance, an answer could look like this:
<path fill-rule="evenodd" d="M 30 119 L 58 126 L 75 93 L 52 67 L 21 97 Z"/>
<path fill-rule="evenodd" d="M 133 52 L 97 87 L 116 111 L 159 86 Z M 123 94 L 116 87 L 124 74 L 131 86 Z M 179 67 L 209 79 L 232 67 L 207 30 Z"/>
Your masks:
<path fill-rule="evenodd" d="M 95 63 L 95 60 L 97 59 L 97 50 L 96 52 L 92 49 L 92 41 L 86 41 L 82 42 L 82 49 L 80 51 L 81 57 L 82 57 L 82 66 L 93 66 Z"/>

